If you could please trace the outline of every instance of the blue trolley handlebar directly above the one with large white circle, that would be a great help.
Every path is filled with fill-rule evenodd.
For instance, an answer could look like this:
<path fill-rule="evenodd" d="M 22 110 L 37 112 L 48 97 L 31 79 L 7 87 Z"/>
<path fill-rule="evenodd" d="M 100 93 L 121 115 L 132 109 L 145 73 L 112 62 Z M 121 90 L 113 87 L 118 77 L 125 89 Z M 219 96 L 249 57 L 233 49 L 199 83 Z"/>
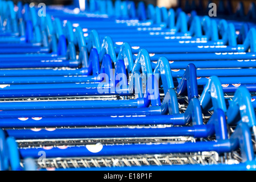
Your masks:
<path fill-rule="evenodd" d="M 6 130 L 15 139 L 57 139 L 57 138 L 113 138 L 113 137 L 208 137 L 207 126 L 168 128 L 109 128 L 109 129 L 60 129 L 60 130 Z"/>

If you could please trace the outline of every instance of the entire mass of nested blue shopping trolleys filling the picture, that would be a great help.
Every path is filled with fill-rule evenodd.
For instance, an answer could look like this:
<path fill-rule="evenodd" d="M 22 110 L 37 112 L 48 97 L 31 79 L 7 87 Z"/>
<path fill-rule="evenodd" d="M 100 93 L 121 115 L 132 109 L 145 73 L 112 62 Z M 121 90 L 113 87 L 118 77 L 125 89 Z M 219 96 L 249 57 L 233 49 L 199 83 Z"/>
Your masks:
<path fill-rule="evenodd" d="M 254 3 L 85 4 L 0 1 L 1 170 L 255 169 Z"/>

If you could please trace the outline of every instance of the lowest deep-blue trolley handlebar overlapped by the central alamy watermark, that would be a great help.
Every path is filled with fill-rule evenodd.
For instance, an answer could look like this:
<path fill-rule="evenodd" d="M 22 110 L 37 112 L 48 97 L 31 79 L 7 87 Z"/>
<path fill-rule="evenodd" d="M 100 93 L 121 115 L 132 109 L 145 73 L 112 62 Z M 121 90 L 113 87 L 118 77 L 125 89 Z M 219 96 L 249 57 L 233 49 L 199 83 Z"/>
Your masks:
<path fill-rule="evenodd" d="M 68 97 L 68 96 L 113 96 L 120 95 L 113 92 L 111 89 L 105 90 L 104 93 L 99 93 L 97 88 L 71 88 L 71 89 L 30 89 L 30 90 L 1 90 L 0 97 L 2 98 L 22 98 L 22 97 Z M 123 96 L 129 96 L 127 92 L 122 93 Z"/>

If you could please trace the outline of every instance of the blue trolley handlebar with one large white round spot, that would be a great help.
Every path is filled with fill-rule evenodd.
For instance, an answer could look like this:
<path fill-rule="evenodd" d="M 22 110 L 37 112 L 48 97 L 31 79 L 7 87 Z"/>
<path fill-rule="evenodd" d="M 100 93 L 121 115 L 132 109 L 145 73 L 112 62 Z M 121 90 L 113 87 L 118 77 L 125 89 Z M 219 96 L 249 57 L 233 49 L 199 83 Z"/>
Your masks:
<path fill-rule="evenodd" d="M 168 154 L 182 152 L 203 152 L 217 151 L 230 152 L 231 144 L 229 140 L 218 142 L 197 142 L 197 143 L 177 143 L 177 144 L 131 144 L 123 146 L 103 146 L 97 153 L 90 152 L 87 147 L 68 147 L 64 150 L 52 148 L 45 150 L 43 148 L 19 149 L 22 158 L 38 158 L 38 152 L 46 152 L 47 158 L 56 157 L 79 157 L 79 156 L 112 156 L 112 155 L 139 155 L 139 154 Z"/>

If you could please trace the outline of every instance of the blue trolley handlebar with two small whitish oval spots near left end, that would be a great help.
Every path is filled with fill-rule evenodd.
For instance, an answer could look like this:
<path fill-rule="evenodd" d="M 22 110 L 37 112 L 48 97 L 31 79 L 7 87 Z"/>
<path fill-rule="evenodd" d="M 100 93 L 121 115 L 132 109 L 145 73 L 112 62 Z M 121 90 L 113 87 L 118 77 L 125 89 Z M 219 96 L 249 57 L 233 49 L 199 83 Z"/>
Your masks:
<path fill-rule="evenodd" d="M 104 109 L 102 109 L 104 110 Z M 136 109 L 134 109 L 136 110 Z M 183 117 L 174 115 L 131 115 L 126 117 L 73 117 L 73 118 L 5 118 L 1 128 L 65 127 L 65 126 L 123 126 L 123 125 L 172 125 L 184 123 Z"/>

